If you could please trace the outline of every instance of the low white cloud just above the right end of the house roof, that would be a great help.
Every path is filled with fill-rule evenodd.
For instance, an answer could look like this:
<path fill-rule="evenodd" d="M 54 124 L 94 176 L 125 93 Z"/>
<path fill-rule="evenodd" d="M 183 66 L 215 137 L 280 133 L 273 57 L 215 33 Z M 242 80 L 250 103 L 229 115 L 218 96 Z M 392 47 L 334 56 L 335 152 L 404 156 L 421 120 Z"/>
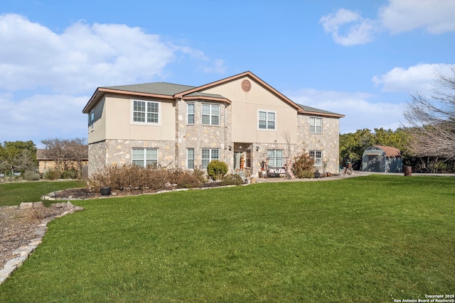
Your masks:
<path fill-rule="evenodd" d="M 298 104 L 346 115 L 340 119 L 341 133 L 354 133 L 363 128 L 395 130 L 404 121 L 404 104 L 374 102 L 370 100 L 375 98 L 372 94 L 302 89 L 288 92 L 287 96 Z"/>

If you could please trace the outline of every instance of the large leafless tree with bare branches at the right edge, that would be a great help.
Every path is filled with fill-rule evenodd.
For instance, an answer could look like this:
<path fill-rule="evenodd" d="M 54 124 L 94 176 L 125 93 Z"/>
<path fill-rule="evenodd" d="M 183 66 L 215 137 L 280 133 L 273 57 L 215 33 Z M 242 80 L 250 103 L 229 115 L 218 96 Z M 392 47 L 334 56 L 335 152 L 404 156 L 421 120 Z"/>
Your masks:
<path fill-rule="evenodd" d="M 416 92 L 407 102 L 405 119 L 414 128 L 411 148 L 415 155 L 455 159 L 455 68 L 434 80 L 434 96 Z"/>

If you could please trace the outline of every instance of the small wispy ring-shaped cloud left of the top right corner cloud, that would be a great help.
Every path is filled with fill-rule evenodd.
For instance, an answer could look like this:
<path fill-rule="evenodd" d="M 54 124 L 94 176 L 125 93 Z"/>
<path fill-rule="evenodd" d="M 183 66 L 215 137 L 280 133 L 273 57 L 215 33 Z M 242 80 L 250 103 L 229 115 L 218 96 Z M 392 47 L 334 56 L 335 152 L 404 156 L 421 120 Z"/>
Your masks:
<path fill-rule="evenodd" d="M 364 19 L 360 14 L 347 9 L 339 9 L 336 13 L 323 16 L 322 23 L 326 33 L 331 33 L 333 40 L 341 45 L 365 44 L 372 40 L 375 32 L 375 23 L 370 19 Z M 354 23 L 354 24 L 353 24 Z M 346 34 L 341 34 L 343 26 L 348 26 Z"/>

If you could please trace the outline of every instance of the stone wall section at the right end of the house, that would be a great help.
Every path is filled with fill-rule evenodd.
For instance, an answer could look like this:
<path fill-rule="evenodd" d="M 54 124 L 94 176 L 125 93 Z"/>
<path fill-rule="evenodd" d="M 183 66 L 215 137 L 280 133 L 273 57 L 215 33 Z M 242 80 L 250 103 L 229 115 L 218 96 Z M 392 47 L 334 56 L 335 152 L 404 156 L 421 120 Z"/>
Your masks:
<path fill-rule="evenodd" d="M 319 118 L 319 117 L 317 117 Z M 322 117 L 322 133 L 310 133 L 310 116 L 299 115 L 297 119 L 297 150 L 322 150 L 326 172 L 339 172 L 340 120 Z M 323 171 L 323 167 L 319 167 Z"/>

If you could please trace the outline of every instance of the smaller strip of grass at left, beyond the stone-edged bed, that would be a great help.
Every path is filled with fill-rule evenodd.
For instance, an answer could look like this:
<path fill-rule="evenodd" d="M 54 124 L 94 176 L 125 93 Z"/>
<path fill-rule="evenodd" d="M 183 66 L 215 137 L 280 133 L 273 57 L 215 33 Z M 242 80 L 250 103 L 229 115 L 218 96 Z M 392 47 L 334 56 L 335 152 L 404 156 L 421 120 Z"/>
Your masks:
<path fill-rule="evenodd" d="M 4 183 L 0 184 L 0 206 L 38 202 L 44 194 L 86 185 L 86 182 L 81 180 Z M 49 203 L 46 202 L 46 204 Z"/>

